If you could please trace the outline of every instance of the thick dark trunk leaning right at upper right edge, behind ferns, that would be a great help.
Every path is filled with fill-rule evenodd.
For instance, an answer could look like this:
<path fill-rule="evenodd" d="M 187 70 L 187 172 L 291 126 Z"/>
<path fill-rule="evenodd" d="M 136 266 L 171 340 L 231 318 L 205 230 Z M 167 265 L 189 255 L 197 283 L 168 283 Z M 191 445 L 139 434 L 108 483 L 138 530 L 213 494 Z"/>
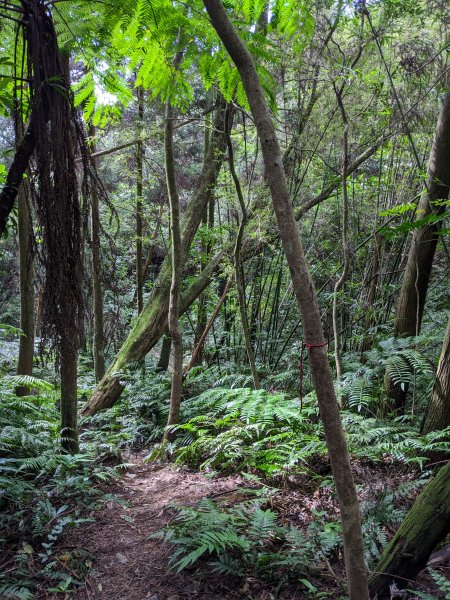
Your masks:
<path fill-rule="evenodd" d="M 450 92 L 444 98 L 428 163 L 426 189 L 417 207 L 417 219 L 444 214 L 450 188 Z M 441 222 L 430 221 L 414 230 L 408 261 L 394 321 L 395 336 L 420 333 L 423 310 L 428 291 L 434 254 L 439 239 Z M 396 412 L 404 409 L 407 387 L 395 385 L 385 376 L 385 387 L 390 399 L 389 408 Z"/>

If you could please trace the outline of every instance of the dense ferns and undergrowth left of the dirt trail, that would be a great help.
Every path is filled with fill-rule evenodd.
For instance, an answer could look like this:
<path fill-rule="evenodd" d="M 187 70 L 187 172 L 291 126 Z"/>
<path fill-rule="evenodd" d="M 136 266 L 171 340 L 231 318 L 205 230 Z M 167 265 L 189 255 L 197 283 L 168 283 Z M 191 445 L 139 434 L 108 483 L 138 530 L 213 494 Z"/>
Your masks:
<path fill-rule="evenodd" d="M 16 386 L 33 393 L 17 397 Z M 55 550 L 68 528 L 85 522 L 83 512 L 102 495 L 96 483 L 114 470 L 97 464 L 92 454 L 70 456 L 60 448 L 53 386 L 35 377 L 2 377 L 0 545 L 9 564 L 0 574 L 2 597 L 32 598 L 49 582 L 66 582 L 67 591 L 81 584 L 72 578 L 73 568 L 62 568 Z"/>

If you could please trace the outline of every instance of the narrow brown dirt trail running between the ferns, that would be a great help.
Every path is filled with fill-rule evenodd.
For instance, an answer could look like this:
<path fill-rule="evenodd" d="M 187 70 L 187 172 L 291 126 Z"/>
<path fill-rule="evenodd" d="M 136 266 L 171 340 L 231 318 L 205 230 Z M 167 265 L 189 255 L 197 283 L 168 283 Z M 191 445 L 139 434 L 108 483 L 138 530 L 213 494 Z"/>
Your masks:
<path fill-rule="evenodd" d="M 136 466 L 109 490 L 120 498 L 120 503 L 108 501 L 103 511 L 93 513 L 95 522 L 77 528 L 66 540 L 66 547 L 83 548 L 93 557 L 86 589 L 71 597 L 83 600 L 245 597 L 228 589 L 220 577 L 211 576 L 205 582 L 194 579 L 188 572 L 177 575 L 169 571 L 167 544 L 150 538 L 171 520 L 173 504 L 195 504 L 201 498 L 224 496 L 236 490 L 242 480 L 236 476 L 207 479 L 173 465 L 145 463 L 142 456 L 132 462 Z M 61 594 L 52 597 L 61 598 Z"/>

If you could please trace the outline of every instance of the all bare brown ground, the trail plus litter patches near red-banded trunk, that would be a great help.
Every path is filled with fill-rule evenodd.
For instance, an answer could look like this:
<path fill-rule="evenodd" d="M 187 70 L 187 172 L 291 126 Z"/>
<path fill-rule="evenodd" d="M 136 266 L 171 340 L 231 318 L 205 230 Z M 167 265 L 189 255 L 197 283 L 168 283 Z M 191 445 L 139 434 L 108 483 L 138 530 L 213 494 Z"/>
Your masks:
<path fill-rule="evenodd" d="M 247 485 L 240 476 L 210 479 L 200 473 L 179 469 L 174 465 L 145 463 L 143 455 L 132 455 L 131 467 L 124 476 L 108 487 L 116 497 L 108 501 L 103 510 L 95 512 L 95 521 L 86 523 L 66 536 L 61 546 L 62 560 L 78 556 L 79 564 L 88 565 L 84 588 L 70 594 L 80 600 L 129 599 L 129 600 L 301 600 L 311 598 L 303 584 L 292 584 L 274 593 L 274 585 L 256 578 L 246 579 L 222 576 L 203 569 L 185 570 L 179 574 L 169 569 L 171 548 L 161 539 L 152 538 L 174 517 L 174 505 L 195 505 L 202 498 L 233 503 L 242 500 L 239 491 Z M 360 463 L 354 465 L 360 485 L 360 499 L 376 494 L 386 486 L 395 487 L 412 478 L 399 475 L 389 466 L 372 467 Z M 292 483 L 292 482 L 291 482 Z M 317 483 L 304 478 L 294 485 L 280 489 L 273 500 L 273 508 L 284 522 L 297 527 L 306 526 L 325 511 L 327 518 L 338 518 L 337 506 L 331 488 L 319 488 Z M 77 560 L 75 558 L 75 560 Z M 448 560 L 447 567 L 450 566 Z M 69 566 L 66 567 L 70 570 Z M 440 567 L 444 565 L 441 563 Z M 448 569 L 447 569 L 448 571 Z M 311 579 L 314 581 L 314 579 Z M 314 597 L 345 597 L 343 591 L 344 571 L 342 560 L 322 565 L 320 576 L 314 583 L 324 594 Z M 418 587 L 433 598 L 444 598 L 424 573 Z M 325 592 L 326 590 L 326 592 Z M 417 598 L 406 592 L 392 598 Z M 40 595 L 41 600 L 63 598 L 64 594 Z M 67 596 L 69 597 L 69 596 Z"/>

